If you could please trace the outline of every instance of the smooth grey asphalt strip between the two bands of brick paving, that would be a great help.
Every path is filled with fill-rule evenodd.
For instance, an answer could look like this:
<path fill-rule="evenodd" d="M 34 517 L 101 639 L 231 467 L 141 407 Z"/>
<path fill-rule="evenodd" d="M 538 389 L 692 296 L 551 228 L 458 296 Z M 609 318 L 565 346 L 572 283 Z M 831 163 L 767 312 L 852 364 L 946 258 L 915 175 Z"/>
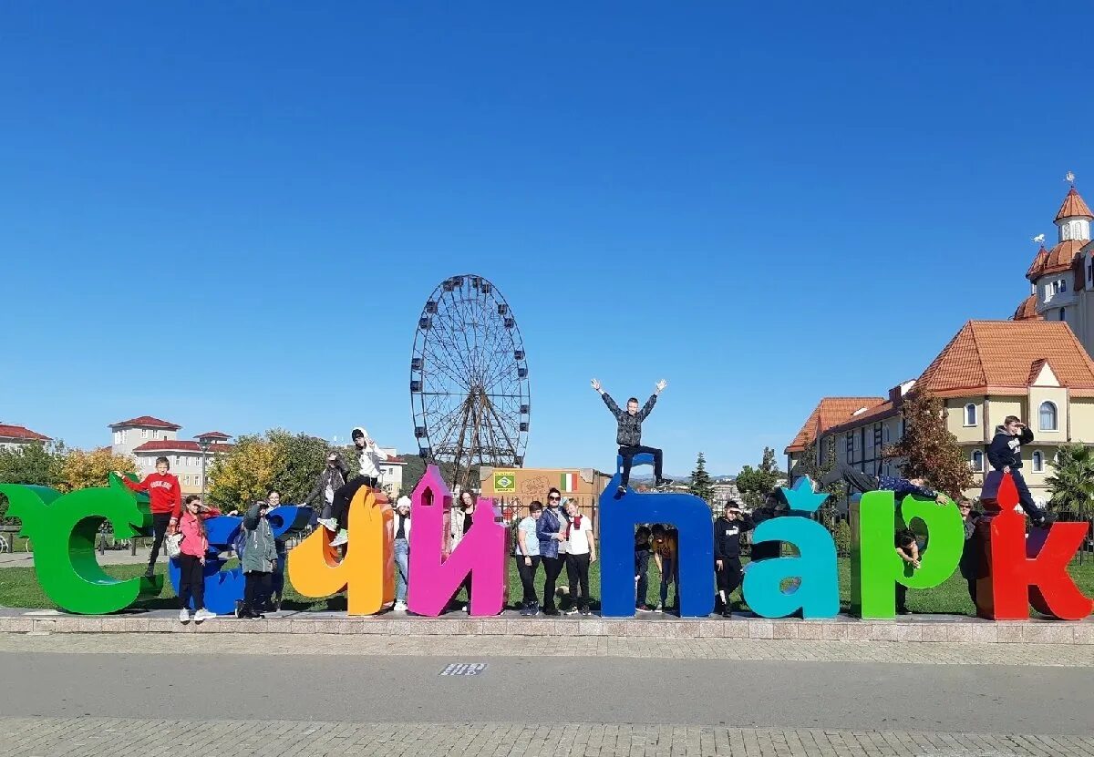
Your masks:
<path fill-rule="evenodd" d="M 475 677 L 439 675 L 454 662 L 488 668 Z M 546 720 L 1094 735 L 1089 668 L 119 651 L 0 653 L 0 671 L 5 683 L 19 684 L 0 687 L 7 717 Z"/>

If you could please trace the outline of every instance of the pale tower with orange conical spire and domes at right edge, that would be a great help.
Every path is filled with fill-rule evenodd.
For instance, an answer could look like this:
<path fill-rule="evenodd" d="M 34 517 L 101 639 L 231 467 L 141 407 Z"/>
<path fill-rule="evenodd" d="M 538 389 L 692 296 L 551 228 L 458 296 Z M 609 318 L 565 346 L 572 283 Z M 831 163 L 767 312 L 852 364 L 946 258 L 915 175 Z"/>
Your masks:
<path fill-rule="evenodd" d="M 1073 179 L 1071 174 L 1069 179 Z M 1094 214 L 1074 184 L 1056 213 L 1057 242 L 1041 245 L 1026 271 L 1031 294 L 1014 311 L 1014 321 L 1067 323 L 1087 354 L 1094 354 Z"/>

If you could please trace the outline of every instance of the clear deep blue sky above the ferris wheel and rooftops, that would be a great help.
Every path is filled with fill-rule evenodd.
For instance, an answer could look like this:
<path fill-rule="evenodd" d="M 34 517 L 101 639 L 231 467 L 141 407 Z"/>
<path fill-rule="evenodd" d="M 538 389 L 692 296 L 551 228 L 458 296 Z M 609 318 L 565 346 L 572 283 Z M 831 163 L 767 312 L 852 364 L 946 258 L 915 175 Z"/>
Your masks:
<path fill-rule="evenodd" d="M 0 420 L 410 450 L 418 313 L 474 271 L 528 465 L 610 469 L 594 375 L 671 382 L 671 473 L 781 456 L 1010 316 L 1068 170 L 1094 200 L 1094 9 L 794 4 L 5 4 Z"/>

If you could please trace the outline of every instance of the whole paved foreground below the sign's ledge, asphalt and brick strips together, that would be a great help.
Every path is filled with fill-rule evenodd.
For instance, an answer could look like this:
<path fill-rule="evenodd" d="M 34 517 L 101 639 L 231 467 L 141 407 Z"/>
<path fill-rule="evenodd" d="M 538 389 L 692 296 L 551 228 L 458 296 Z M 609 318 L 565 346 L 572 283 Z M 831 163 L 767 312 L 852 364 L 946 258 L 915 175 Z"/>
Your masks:
<path fill-rule="evenodd" d="M 1090 645 L 5 633 L 0 671 L 0 756 L 1094 755 Z"/>

